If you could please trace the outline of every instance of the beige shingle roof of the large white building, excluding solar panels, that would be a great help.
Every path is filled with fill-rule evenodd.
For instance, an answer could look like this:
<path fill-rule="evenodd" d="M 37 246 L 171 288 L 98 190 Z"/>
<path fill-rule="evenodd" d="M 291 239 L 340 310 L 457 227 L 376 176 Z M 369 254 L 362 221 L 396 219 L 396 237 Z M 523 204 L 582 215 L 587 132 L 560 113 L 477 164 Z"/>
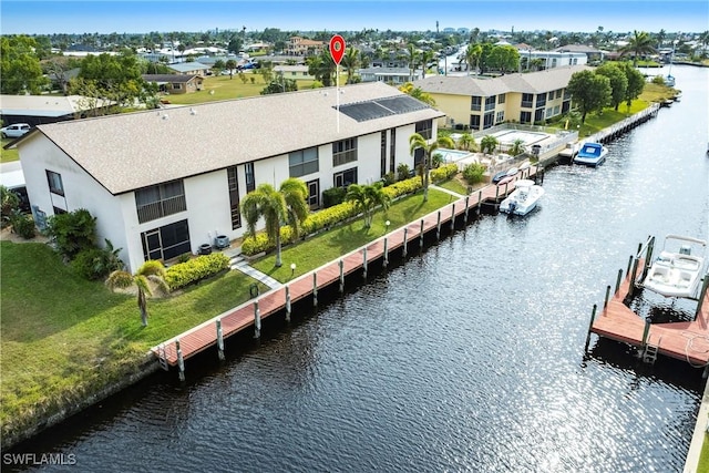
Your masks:
<path fill-rule="evenodd" d="M 403 95 L 383 83 L 347 85 L 340 92 L 341 105 Z M 37 130 L 109 192 L 121 194 L 445 115 L 427 106 L 357 122 L 340 113 L 338 132 L 336 105 L 336 89 L 328 88 L 45 124 Z"/>

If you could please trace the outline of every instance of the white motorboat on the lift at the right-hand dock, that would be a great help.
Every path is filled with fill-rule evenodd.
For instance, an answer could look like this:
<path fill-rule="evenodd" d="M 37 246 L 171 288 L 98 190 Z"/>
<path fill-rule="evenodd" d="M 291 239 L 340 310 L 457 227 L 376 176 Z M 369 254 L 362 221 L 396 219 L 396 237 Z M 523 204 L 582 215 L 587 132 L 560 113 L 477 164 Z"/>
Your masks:
<path fill-rule="evenodd" d="M 692 254 L 695 249 L 701 248 Z M 705 276 L 707 241 L 680 235 L 667 235 L 659 256 L 648 270 L 643 287 L 665 297 L 698 297 Z"/>

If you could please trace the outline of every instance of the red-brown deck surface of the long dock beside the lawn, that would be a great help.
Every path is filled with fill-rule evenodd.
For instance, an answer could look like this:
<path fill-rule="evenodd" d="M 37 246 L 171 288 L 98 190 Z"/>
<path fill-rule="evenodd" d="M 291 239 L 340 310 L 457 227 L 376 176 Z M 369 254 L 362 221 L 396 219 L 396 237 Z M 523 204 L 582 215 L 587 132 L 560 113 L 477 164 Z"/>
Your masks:
<path fill-rule="evenodd" d="M 530 167 L 520 172 L 516 177 L 528 178 L 534 176 L 537 171 L 537 167 Z M 343 276 L 348 276 L 353 271 L 363 269 L 366 267 L 364 261 L 370 264 L 379 258 L 383 258 L 384 240 L 387 240 L 387 251 L 390 253 L 403 246 L 404 235 L 407 243 L 415 241 L 421 238 L 422 230 L 423 235 L 425 235 L 429 232 L 436 230 L 439 225 L 441 227 L 443 227 L 444 224 L 450 225 L 453 213 L 455 214 L 455 217 L 461 217 L 465 214 L 466 203 L 469 212 L 474 210 L 479 205 L 485 202 L 495 202 L 496 199 L 504 197 L 507 193 L 511 193 L 513 189 L 514 183 L 508 183 L 508 185 L 504 186 L 486 186 L 467 197 L 462 197 L 454 203 L 442 207 L 440 210 L 435 210 L 424 216 L 418 222 L 397 228 L 367 246 L 343 255 L 336 261 L 314 269 L 282 287 L 271 289 L 249 302 L 243 304 L 242 306 L 224 312 L 220 316 L 167 340 L 157 347 L 153 347 L 152 351 L 158 357 L 158 359 L 162 359 L 165 364 L 177 366 L 178 357 L 175 345 L 176 341 L 179 341 L 179 349 L 182 351 L 183 359 L 188 359 L 201 351 L 217 345 L 217 320 L 220 320 L 222 323 L 223 338 L 227 339 L 229 336 L 253 327 L 256 323 L 257 307 L 260 319 L 265 319 L 273 313 L 285 310 L 286 287 L 290 294 L 291 304 L 312 296 L 314 288 L 316 287 L 317 290 L 320 290 L 332 284 L 340 282 L 340 261 L 342 264 Z"/>

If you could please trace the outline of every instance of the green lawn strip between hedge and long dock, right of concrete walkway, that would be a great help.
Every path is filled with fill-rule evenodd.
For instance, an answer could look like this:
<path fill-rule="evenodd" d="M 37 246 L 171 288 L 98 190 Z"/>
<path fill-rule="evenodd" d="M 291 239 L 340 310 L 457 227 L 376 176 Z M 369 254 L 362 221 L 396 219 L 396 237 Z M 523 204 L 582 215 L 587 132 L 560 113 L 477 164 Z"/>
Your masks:
<path fill-rule="evenodd" d="M 295 276 L 300 276 L 384 235 L 387 220 L 390 222 L 389 229 L 393 230 L 455 200 L 458 198 L 448 193 L 429 189 L 429 200 L 424 204 L 419 192 L 398 200 L 387 212 L 377 212 L 369 229 L 363 227 L 362 219 L 358 219 L 285 247 L 280 268 L 275 267 L 275 254 L 265 256 L 251 266 L 274 279 L 287 282 L 290 279 L 291 263 L 296 264 Z"/>

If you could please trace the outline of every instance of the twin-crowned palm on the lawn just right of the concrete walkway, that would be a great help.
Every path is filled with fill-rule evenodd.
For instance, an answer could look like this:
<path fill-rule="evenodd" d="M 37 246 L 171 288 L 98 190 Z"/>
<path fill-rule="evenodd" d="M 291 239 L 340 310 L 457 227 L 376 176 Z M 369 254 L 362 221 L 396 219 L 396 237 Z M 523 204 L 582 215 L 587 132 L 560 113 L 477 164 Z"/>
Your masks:
<path fill-rule="evenodd" d="M 308 187 L 306 183 L 295 177 L 287 178 L 276 191 L 270 184 L 259 184 L 244 197 L 242 213 L 246 219 L 247 232 L 253 236 L 256 223 L 260 217 L 266 220 L 266 234 L 276 241 L 276 267 L 282 266 L 280 258 L 280 227 L 290 226 L 294 238 L 300 234 L 300 224 L 308 216 L 309 208 L 306 198 Z"/>

